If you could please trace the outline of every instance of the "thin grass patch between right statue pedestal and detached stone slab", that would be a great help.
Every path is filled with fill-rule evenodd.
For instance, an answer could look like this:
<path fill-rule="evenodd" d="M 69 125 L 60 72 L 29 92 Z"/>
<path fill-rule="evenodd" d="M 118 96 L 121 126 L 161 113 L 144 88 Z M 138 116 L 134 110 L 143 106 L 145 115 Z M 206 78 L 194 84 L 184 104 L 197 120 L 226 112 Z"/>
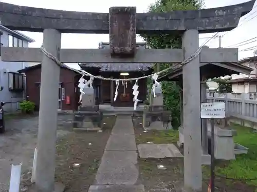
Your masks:
<path fill-rule="evenodd" d="M 175 143 L 178 140 L 178 130 L 148 131 L 136 138 L 137 144 L 154 142 L 155 144 Z"/>

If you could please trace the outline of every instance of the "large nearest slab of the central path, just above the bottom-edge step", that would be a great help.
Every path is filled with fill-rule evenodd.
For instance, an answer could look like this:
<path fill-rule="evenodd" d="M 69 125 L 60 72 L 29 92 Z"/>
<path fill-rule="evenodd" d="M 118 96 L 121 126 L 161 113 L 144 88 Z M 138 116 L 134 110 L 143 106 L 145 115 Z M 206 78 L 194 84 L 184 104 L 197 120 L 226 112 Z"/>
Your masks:
<path fill-rule="evenodd" d="M 138 179 L 136 151 L 105 151 L 96 175 L 96 184 L 134 185 Z"/>

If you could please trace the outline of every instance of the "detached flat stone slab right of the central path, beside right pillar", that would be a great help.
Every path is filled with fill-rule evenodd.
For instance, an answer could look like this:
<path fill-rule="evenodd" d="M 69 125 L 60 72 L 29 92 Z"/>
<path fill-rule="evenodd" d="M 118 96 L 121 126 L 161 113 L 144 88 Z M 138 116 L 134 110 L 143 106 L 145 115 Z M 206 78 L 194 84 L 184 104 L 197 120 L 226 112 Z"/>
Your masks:
<path fill-rule="evenodd" d="M 183 157 L 174 144 L 139 144 L 140 158 Z"/>

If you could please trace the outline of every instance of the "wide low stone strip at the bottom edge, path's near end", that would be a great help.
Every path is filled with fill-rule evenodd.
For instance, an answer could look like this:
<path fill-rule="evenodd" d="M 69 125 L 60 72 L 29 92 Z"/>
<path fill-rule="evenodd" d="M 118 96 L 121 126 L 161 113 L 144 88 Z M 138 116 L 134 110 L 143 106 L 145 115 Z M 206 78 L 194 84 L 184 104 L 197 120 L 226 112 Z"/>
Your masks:
<path fill-rule="evenodd" d="M 91 185 L 88 192 L 144 192 L 143 185 Z"/>

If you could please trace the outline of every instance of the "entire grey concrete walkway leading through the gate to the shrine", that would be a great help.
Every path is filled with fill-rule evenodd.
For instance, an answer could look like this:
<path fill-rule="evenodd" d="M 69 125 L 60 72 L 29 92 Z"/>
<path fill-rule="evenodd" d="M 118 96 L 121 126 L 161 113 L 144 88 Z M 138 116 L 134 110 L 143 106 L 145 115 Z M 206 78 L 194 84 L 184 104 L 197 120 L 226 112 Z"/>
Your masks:
<path fill-rule="evenodd" d="M 132 118 L 118 116 L 97 171 L 96 183 L 90 186 L 89 192 L 144 191 L 143 185 L 136 185 L 139 176 L 136 164 L 137 146 Z"/>

